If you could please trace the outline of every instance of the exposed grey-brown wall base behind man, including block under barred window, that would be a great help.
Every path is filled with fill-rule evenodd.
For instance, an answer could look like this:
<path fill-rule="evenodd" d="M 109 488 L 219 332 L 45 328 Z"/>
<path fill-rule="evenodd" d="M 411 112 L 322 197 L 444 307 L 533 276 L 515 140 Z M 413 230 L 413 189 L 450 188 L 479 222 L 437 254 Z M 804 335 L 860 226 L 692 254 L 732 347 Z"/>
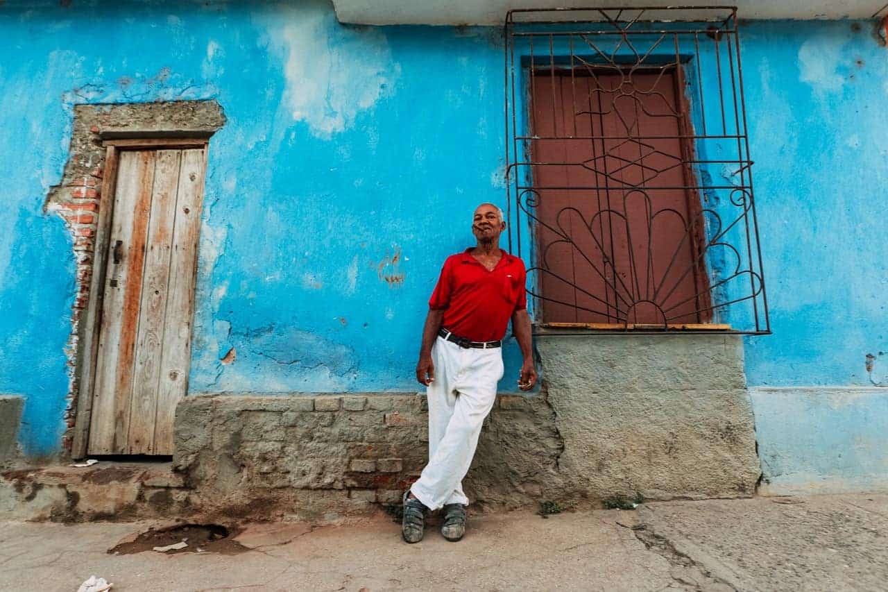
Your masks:
<path fill-rule="evenodd" d="M 756 491 L 739 336 L 536 344 L 543 389 L 498 397 L 464 480 L 476 508 Z M 418 394 L 189 396 L 173 465 L 202 513 L 343 516 L 400 502 L 426 462 L 427 420 Z"/>

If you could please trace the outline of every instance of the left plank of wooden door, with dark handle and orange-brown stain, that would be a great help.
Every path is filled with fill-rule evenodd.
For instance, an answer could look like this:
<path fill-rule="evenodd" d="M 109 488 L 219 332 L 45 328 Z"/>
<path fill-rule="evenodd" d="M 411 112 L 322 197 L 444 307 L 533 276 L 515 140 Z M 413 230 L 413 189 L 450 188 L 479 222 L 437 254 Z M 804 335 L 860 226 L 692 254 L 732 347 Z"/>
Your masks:
<path fill-rule="evenodd" d="M 153 151 L 121 154 L 114 220 L 108 240 L 111 252 L 99 320 L 89 438 L 91 454 L 123 452 L 123 440 L 129 428 L 132 355 L 154 173 Z M 116 251 L 120 258 L 115 262 L 118 244 Z"/>

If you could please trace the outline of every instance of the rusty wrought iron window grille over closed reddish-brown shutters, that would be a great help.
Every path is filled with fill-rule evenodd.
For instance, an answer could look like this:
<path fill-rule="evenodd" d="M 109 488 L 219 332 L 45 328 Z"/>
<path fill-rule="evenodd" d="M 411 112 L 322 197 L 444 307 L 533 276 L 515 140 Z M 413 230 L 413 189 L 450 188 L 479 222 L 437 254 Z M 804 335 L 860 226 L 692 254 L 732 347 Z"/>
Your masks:
<path fill-rule="evenodd" d="M 537 326 L 770 333 L 736 9 L 513 10 L 504 37 Z"/>

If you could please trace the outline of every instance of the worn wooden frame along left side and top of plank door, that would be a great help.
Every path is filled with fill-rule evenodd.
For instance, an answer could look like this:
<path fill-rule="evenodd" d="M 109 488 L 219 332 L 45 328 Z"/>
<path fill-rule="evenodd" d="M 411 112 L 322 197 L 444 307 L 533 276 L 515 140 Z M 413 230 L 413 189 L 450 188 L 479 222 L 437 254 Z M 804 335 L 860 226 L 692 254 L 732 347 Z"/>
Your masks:
<path fill-rule="evenodd" d="M 99 330 L 102 321 L 102 303 L 105 296 L 107 248 L 111 220 L 114 220 L 115 189 L 117 187 L 117 169 L 120 153 L 124 150 L 203 148 L 204 188 L 206 187 L 205 179 L 210 135 L 202 136 L 194 133 L 181 138 L 170 136 L 134 137 L 139 135 L 138 132 L 126 137 L 115 137 L 117 135 L 115 132 L 109 132 L 104 136 L 106 139 L 102 142 L 102 146 L 105 147 L 105 167 L 99 191 L 99 216 L 96 222 L 96 240 L 92 252 L 90 292 L 87 296 L 83 320 L 77 331 L 75 380 L 78 380 L 79 388 L 77 390 L 77 407 L 71 444 L 72 459 L 82 459 L 86 456 L 86 449 L 89 443 L 96 363 L 99 359 Z M 192 315 L 194 315 L 194 309 L 192 309 Z M 192 331 L 194 331 L 194 323 L 192 323 Z"/>

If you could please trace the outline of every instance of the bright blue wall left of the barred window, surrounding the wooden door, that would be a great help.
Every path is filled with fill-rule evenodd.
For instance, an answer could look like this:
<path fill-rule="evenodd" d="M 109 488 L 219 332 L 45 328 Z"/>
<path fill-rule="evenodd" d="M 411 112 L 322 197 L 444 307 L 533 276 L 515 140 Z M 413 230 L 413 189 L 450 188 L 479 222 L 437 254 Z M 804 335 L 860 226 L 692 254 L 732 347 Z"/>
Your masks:
<path fill-rule="evenodd" d="M 346 28 L 326 3 L 23 4 L 0 8 L 0 390 L 26 397 L 28 454 L 57 450 L 64 428 L 74 261 L 42 207 L 78 102 L 225 109 L 192 391 L 420 388 L 440 265 L 473 243 L 474 206 L 504 193 L 496 31 Z"/>

